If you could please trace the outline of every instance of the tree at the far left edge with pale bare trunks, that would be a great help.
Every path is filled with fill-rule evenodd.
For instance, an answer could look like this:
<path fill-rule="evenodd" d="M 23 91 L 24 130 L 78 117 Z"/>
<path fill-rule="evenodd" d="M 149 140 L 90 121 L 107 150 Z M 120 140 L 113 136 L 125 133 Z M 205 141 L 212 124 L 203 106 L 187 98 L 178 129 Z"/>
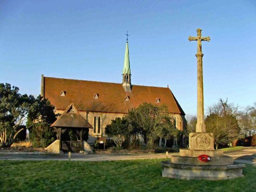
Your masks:
<path fill-rule="evenodd" d="M 17 135 L 25 128 L 21 125 L 27 118 L 33 96 L 18 93 L 17 87 L 0 83 L 0 144 L 10 147 Z"/>

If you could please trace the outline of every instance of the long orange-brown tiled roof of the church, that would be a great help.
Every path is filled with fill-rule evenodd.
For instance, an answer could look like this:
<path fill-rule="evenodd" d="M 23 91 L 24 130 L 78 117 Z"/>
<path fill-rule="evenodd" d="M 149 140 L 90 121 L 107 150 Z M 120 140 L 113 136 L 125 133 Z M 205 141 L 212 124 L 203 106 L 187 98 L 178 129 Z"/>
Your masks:
<path fill-rule="evenodd" d="M 65 96 L 60 96 L 64 91 Z M 98 98 L 94 98 L 95 94 Z M 125 97 L 129 96 L 129 100 Z M 73 102 L 79 111 L 127 113 L 143 102 L 166 104 L 169 113 L 185 115 L 169 88 L 132 86 L 125 92 L 121 83 L 44 77 L 44 97 L 57 110 L 64 110 Z M 156 102 L 159 98 L 160 102 Z"/>

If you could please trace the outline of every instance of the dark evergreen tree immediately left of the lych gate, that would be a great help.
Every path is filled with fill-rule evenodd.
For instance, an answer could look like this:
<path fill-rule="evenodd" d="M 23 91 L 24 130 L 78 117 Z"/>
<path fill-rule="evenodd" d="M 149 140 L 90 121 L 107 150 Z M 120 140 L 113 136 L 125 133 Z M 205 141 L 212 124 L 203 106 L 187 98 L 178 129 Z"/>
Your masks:
<path fill-rule="evenodd" d="M 33 99 L 28 113 L 27 127 L 34 147 L 46 147 L 55 140 L 50 125 L 56 120 L 54 106 L 40 95 Z"/>

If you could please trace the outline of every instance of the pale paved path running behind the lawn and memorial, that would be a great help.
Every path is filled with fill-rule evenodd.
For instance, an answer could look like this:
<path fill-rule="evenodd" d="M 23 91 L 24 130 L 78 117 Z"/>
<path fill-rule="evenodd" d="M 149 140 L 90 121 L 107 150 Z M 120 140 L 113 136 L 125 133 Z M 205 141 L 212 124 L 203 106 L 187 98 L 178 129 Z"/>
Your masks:
<path fill-rule="evenodd" d="M 225 156 L 234 158 L 234 162 L 248 163 L 256 165 L 256 147 L 246 147 L 237 152 L 225 153 Z M 169 154 L 170 157 L 170 154 Z M 72 161 L 114 161 L 114 160 L 132 160 L 132 159 L 164 159 L 165 154 L 90 154 L 82 155 L 72 153 Z M 47 154 L 2 154 L 0 160 L 68 160 L 68 154 L 47 155 Z"/>

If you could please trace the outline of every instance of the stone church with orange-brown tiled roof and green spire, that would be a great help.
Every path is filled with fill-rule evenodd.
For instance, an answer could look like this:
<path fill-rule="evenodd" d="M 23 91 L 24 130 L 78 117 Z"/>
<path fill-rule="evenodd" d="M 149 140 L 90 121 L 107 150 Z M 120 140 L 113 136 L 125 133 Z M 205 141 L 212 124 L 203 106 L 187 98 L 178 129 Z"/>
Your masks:
<path fill-rule="evenodd" d="M 177 129 L 185 126 L 185 113 L 172 91 L 162 87 L 132 84 L 128 41 L 126 42 L 122 82 L 41 77 L 41 95 L 55 106 L 59 116 L 73 103 L 79 114 L 91 125 L 89 143 L 104 137 L 105 126 L 116 117 L 123 117 L 141 103 L 165 104 L 175 119 Z"/>

